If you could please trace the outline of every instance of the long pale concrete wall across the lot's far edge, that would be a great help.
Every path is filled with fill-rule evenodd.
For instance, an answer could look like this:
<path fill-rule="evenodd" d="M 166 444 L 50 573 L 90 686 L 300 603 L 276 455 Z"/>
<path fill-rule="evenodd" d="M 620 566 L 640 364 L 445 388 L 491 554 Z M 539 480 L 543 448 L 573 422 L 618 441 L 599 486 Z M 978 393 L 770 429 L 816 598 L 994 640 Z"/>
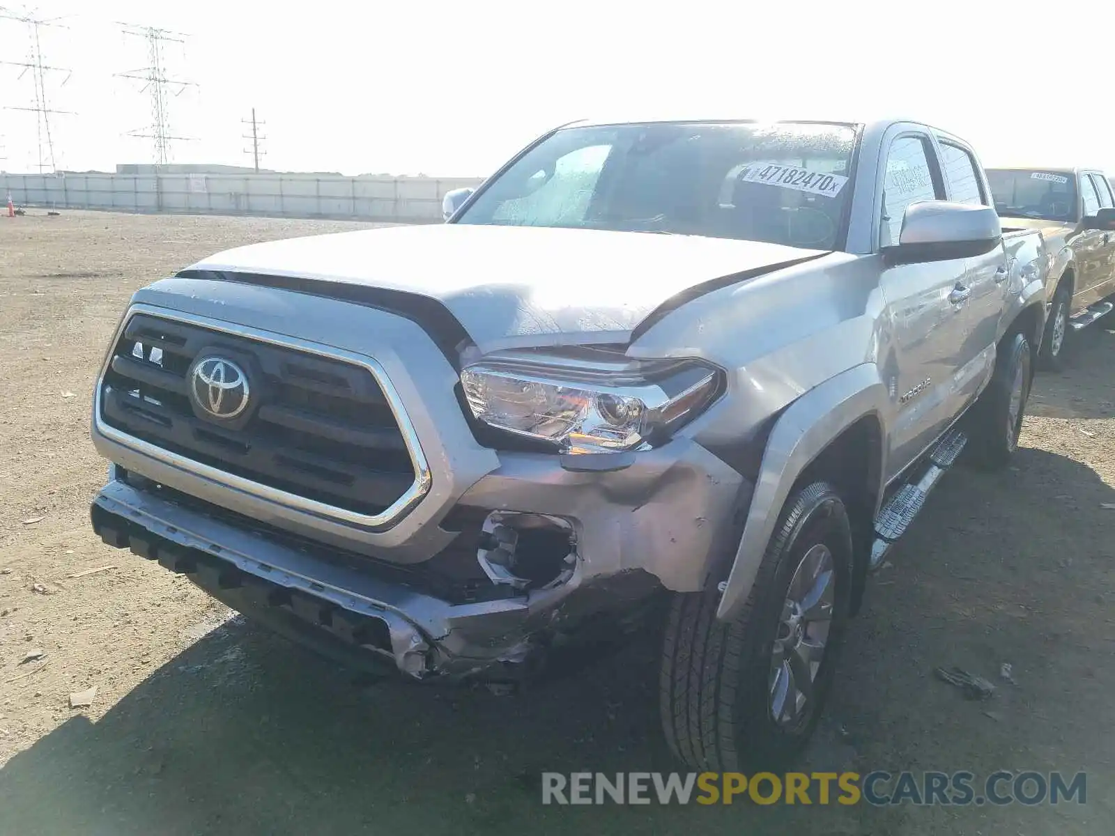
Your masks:
<path fill-rule="evenodd" d="M 446 192 L 479 183 L 330 174 L 0 174 L 0 201 L 10 192 L 17 206 L 420 223 L 442 220 Z"/>

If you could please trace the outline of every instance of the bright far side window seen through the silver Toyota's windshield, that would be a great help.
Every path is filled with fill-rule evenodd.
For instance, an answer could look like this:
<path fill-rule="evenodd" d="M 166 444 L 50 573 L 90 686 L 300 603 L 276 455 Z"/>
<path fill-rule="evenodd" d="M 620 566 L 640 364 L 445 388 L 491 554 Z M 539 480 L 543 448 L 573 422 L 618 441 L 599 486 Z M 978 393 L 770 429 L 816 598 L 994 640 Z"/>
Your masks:
<path fill-rule="evenodd" d="M 553 173 L 540 169 L 527 181 L 529 193 L 504 201 L 494 221 L 535 225 L 561 225 L 584 221 L 589 202 L 611 145 L 589 145 L 559 157 Z M 537 179 L 532 186 L 531 181 Z"/>

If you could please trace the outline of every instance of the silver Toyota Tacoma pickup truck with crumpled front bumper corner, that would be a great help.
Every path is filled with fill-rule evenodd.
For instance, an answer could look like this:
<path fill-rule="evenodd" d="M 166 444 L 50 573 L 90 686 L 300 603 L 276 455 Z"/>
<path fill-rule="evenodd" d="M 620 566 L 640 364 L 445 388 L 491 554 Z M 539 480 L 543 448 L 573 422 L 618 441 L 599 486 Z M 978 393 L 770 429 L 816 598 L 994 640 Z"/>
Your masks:
<path fill-rule="evenodd" d="M 448 203 L 139 290 L 94 528 L 416 680 L 658 630 L 681 760 L 791 758 L 869 572 L 1016 448 L 1041 234 L 893 120 L 576 123 Z"/>

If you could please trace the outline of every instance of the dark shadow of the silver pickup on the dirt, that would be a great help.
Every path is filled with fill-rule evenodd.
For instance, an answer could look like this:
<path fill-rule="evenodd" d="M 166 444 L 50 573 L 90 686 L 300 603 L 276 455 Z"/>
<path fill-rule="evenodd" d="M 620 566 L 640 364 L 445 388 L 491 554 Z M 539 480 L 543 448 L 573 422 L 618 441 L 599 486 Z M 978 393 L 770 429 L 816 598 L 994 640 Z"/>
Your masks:
<path fill-rule="evenodd" d="M 1096 625 L 1109 624 L 1115 517 L 1101 504 L 1115 490 L 1032 448 L 1008 472 L 960 468 L 947 484 L 875 576 L 803 767 L 1106 769 L 1095 729 L 1115 726 L 1115 672 L 1097 663 L 1112 629 Z M 1018 686 L 1000 680 L 1004 662 Z M 544 770 L 675 768 L 659 738 L 657 663 L 647 636 L 513 697 L 360 683 L 233 620 L 96 723 L 76 717 L 16 755 L 0 770 L 0 833 L 738 834 L 746 823 L 748 833 L 900 834 L 957 832 L 957 817 L 977 811 L 543 806 Z M 992 701 L 933 679 L 951 664 L 996 682 Z M 1102 823 L 1115 825 L 1109 809 L 1085 809 L 1098 828 L 1087 832 L 1115 832 Z M 1064 806 L 981 815 L 1085 832 Z"/>

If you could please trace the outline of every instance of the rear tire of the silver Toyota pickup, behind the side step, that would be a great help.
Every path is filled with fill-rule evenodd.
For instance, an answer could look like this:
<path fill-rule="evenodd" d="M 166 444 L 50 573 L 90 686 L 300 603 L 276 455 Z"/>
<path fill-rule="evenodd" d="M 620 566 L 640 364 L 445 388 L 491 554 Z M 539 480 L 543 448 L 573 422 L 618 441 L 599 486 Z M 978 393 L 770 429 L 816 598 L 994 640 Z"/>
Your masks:
<path fill-rule="evenodd" d="M 991 382 L 972 408 L 969 447 L 973 463 L 982 469 L 1006 467 L 1015 455 L 1032 378 L 1029 341 L 1020 333 L 1007 337 Z"/>

